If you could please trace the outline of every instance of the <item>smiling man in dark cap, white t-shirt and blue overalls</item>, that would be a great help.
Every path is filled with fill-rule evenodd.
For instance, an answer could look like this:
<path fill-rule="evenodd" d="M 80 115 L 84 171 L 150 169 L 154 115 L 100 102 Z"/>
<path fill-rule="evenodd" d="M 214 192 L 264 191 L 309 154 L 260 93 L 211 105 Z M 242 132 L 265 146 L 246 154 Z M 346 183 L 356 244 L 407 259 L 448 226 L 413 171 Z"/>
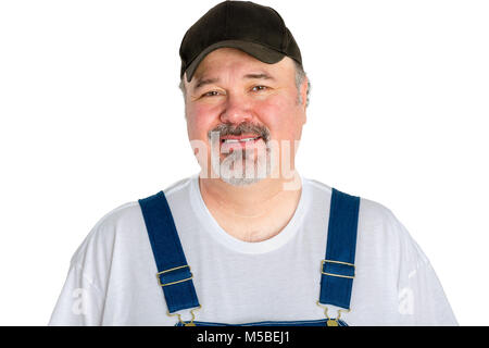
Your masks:
<path fill-rule="evenodd" d="M 389 209 L 296 170 L 310 84 L 275 10 L 217 4 L 180 58 L 202 171 L 96 224 L 50 325 L 456 325 Z"/>

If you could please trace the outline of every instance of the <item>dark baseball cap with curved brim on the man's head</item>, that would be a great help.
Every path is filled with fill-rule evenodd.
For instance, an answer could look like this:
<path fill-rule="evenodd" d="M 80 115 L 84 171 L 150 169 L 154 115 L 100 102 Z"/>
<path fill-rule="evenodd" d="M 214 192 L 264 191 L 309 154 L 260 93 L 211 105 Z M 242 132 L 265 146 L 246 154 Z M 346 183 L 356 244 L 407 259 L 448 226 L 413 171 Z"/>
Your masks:
<path fill-rule="evenodd" d="M 187 73 L 190 82 L 205 55 L 223 47 L 240 49 L 267 64 L 287 55 L 302 65 L 299 46 L 277 11 L 251 1 L 224 1 L 185 34 L 180 78 Z"/>

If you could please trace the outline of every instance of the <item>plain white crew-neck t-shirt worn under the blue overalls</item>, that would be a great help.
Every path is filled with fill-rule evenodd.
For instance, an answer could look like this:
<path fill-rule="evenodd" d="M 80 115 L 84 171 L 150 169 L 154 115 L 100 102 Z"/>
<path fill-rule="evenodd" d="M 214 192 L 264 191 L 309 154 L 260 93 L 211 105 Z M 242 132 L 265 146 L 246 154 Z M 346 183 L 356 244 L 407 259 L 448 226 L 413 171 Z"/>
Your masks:
<path fill-rule="evenodd" d="M 202 308 L 196 321 L 241 324 L 324 319 L 319 298 L 331 188 L 302 194 L 275 237 L 227 234 L 202 199 L 198 174 L 164 190 Z M 348 325 L 457 325 L 428 259 L 384 206 L 361 199 Z M 175 325 L 137 201 L 104 215 L 76 250 L 49 325 Z M 328 314 L 337 309 L 329 306 Z M 189 320 L 189 310 L 180 311 Z"/>

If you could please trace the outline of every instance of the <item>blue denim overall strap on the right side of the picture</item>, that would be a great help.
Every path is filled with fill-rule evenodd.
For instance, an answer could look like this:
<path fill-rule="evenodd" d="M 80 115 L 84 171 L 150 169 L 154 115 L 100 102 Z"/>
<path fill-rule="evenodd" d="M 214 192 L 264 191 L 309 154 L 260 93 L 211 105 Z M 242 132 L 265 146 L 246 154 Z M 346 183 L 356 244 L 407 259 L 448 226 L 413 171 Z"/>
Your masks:
<path fill-rule="evenodd" d="M 321 263 L 319 303 L 350 309 L 359 209 L 360 197 L 333 188 L 326 259 Z"/>

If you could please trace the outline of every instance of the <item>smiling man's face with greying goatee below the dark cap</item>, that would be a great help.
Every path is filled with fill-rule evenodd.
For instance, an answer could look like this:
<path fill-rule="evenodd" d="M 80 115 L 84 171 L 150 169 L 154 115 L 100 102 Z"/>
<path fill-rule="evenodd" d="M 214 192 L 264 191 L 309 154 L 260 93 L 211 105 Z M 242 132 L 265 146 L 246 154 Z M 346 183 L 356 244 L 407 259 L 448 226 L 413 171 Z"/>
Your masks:
<path fill-rule="evenodd" d="M 208 177 L 244 185 L 293 170 L 305 123 L 306 80 L 298 90 L 290 58 L 266 64 L 237 49 L 217 49 L 190 83 L 184 79 L 188 136 L 205 152 L 198 159 Z"/>

